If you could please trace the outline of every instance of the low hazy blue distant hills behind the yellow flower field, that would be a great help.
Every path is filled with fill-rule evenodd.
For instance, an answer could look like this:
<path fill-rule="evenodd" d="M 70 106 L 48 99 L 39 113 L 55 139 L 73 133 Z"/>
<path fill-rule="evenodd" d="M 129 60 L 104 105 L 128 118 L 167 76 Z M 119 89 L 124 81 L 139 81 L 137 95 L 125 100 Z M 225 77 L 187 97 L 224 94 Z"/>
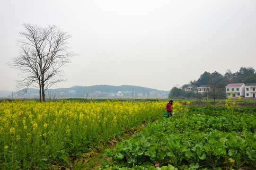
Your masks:
<path fill-rule="evenodd" d="M 133 90 L 133 93 L 132 93 Z M 92 85 L 72 86 L 70 88 L 49 89 L 45 92 L 46 98 L 168 98 L 168 91 L 157 90 L 134 85 Z M 0 98 L 39 98 L 39 90 L 29 88 L 23 91 L 12 92 L 0 90 Z"/>

